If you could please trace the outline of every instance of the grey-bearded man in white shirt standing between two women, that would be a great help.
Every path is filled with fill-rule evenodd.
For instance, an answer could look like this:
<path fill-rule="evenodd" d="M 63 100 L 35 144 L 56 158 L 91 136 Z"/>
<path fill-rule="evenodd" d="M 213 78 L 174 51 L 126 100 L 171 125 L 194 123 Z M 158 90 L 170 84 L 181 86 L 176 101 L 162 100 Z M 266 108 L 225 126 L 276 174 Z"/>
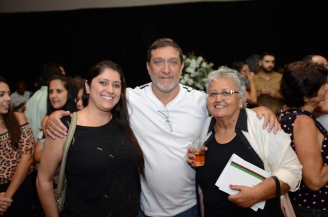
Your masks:
<path fill-rule="evenodd" d="M 183 57 L 172 39 L 151 45 L 147 69 L 152 82 L 128 89 L 131 127 L 145 156 L 140 216 L 198 216 L 195 170 L 185 161 L 209 116 L 206 94 L 179 83 Z"/>

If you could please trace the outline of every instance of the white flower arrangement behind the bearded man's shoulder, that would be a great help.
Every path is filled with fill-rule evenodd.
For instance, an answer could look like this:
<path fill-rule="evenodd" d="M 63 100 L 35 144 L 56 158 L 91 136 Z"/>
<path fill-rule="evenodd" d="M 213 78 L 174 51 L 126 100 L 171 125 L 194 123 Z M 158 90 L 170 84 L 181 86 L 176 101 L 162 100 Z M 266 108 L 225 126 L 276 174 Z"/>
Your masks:
<path fill-rule="evenodd" d="M 202 56 L 195 56 L 194 53 L 183 55 L 183 61 L 185 67 L 182 70 L 180 83 L 204 91 L 207 76 L 213 71 L 214 63 L 207 62 Z"/>

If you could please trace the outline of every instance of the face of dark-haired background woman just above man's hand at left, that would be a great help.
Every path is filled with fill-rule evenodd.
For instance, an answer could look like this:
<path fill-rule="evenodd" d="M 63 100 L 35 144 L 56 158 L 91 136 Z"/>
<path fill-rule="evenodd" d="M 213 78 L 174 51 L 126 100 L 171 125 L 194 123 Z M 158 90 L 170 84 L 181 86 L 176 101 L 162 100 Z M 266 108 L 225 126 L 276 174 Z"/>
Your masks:
<path fill-rule="evenodd" d="M 55 110 L 60 110 L 67 102 L 68 91 L 65 88 L 63 81 L 55 79 L 49 83 L 49 99 Z"/>

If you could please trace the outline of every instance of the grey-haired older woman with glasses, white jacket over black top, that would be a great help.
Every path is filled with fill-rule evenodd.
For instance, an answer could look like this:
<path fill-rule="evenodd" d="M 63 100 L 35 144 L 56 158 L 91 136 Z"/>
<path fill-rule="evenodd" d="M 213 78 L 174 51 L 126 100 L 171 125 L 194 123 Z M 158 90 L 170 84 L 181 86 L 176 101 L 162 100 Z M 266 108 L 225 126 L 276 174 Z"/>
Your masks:
<path fill-rule="evenodd" d="M 220 67 L 208 76 L 207 107 L 212 115 L 203 125 L 208 135 L 205 164 L 196 168 L 196 181 L 203 193 L 204 214 L 210 216 L 278 216 L 276 183 L 267 178 L 254 187 L 230 184 L 239 191 L 228 195 L 215 186 L 232 154 L 236 154 L 272 176 L 280 183 L 280 192 L 298 189 L 301 165 L 290 146 L 288 134 L 277 134 L 263 128 L 263 120 L 246 107 L 246 90 L 239 72 Z M 193 166 L 193 148 L 188 148 L 187 162 Z M 266 200 L 264 209 L 252 210 L 254 204 Z M 279 213 L 277 213 L 279 212 Z"/>

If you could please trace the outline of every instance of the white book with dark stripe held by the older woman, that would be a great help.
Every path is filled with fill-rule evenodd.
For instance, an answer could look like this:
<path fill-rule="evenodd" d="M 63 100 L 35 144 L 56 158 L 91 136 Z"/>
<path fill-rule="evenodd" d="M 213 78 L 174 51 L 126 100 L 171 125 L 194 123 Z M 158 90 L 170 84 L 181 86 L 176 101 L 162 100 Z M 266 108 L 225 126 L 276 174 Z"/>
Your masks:
<path fill-rule="evenodd" d="M 215 185 L 219 187 L 220 190 L 233 195 L 239 191 L 231 189 L 230 184 L 254 187 L 268 177 L 271 177 L 269 172 L 233 154 L 222 170 Z M 251 208 L 257 211 L 258 208 L 263 209 L 264 205 L 265 201 L 261 201 Z"/>

